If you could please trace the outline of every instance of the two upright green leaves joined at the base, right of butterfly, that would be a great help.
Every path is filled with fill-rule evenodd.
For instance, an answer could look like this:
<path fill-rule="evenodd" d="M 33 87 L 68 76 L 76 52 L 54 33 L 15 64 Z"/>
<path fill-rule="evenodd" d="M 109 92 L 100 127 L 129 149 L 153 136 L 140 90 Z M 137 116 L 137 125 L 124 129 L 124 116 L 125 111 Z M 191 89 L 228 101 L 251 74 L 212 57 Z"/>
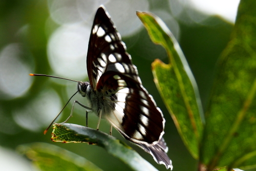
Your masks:
<path fill-rule="evenodd" d="M 217 65 L 203 136 L 197 86 L 178 43 L 159 18 L 138 13 L 152 41 L 169 56 L 167 65 L 160 60 L 152 64 L 158 89 L 191 155 L 196 159 L 199 155 L 207 170 L 256 164 L 256 13 L 252 7 L 255 1 L 240 3 L 231 40 Z"/>

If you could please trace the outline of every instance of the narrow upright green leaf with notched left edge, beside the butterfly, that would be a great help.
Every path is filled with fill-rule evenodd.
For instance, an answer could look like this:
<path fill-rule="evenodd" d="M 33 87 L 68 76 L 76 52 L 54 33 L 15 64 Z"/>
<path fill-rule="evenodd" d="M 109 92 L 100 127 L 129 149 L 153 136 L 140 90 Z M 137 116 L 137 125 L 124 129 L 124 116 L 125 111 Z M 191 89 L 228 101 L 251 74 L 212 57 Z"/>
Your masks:
<path fill-rule="evenodd" d="M 184 144 L 197 159 L 203 112 L 195 79 L 178 42 L 163 21 L 151 13 L 137 12 L 137 15 L 152 41 L 167 52 L 169 64 L 158 59 L 152 63 L 154 80 Z"/>

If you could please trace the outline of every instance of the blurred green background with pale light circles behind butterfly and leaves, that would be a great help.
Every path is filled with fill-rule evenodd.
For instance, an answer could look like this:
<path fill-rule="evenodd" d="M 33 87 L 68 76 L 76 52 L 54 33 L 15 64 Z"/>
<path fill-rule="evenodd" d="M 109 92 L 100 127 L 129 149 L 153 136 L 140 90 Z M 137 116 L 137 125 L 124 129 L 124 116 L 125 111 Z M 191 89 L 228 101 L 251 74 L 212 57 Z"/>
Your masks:
<path fill-rule="evenodd" d="M 138 68 L 143 86 L 154 96 L 164 114 L 164 139 L 169 147 L 168 156 L 173 161 L 174 170 L 196 170 L 197 161 L 183 145 L 153 82 L 151 63 L 156 58 L 167 63 L 166 52 L 161 46 L 151 42 L 135 12 L 146 10 L 155 13 L 173 32 L 196 78 L 203 108 L 207 104 L 216 61 L 229 40 L 233 24 L 219 16 L 208 16 L 172 0 L 145 0 L 140 4 L 136 4 L 135 1 L 129 2 L 132 5 L 125 8 L 130 10 L 127 13 L 133 17 L 128 22 L 123 16 L 125 11 L 122 13 L 120 9 L 116 10 L 124 1 L 100 2 L 105 3 L 113 21 L 117 20 L 119 23 L 120 27 L 117 25 L 117 30 Z M 13 170 L 13 165 L 17 165 L 18 170 L 35 169 L 25 156 L 15 151 L 18 145 L 32 142 L 58 145 L 87 158 L 103 170 L 130 170 L 96 145 L 54 143 L 51 141 L 52 129 L 46 135 L 42 134 L 76 91 L 76 83 L 29 76 L 30 73 L 36 73 L 66 76 L 78 81 L 88 80 L 84 52 L 87 51 L 92 19 L 100 2 L 0 1 L 0 168 L 1 165 L 3 167 L 1 170 Z M 75 13 L 77 9 L 78 12 Z M 84 14 L 84 11 L 88 13 Z M 121 21 L 124 22 L 124 28 L 121 28 Z M 79 34 L 84 34 L 84 39 L 78 40 Z M 72 48 L 69 48 L 70 46 Z M 80 95 L 76 95 L 72 102 L 74 100 L 87 104 Z M 69 116 L 72 102 L 57 121 L 64 121 Z M 85 125 L 85 113 L 83 108 L 76 106 L 74 117 L 69 123 Z M 95 114 L 90 114 L 89 127 L 96 128 L 97 119 Z M 100 130 L 109 132 L 109 128 L 110 125 L 102 120 Z M 116 130 L 113 131 L 113 136 L 131 145 L 159 170 L 166 170 L 164 165 L 156 164 L 151 155 L 127 142 Z M 7 165 L 9 167 L 4 167 Z"/>

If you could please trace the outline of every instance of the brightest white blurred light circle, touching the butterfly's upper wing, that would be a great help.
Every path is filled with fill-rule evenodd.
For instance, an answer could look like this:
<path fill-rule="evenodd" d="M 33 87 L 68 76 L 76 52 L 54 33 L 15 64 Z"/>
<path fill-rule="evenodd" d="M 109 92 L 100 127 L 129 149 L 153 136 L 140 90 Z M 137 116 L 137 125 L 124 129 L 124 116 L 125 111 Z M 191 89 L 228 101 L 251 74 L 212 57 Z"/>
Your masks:
<path fill-rule="evenodd" d="M 48 58 L 54 75 L 74 80 L 87 77 L 87 50 L 91 28 L 87 25 L 61 26 L 48 42 Z"/>

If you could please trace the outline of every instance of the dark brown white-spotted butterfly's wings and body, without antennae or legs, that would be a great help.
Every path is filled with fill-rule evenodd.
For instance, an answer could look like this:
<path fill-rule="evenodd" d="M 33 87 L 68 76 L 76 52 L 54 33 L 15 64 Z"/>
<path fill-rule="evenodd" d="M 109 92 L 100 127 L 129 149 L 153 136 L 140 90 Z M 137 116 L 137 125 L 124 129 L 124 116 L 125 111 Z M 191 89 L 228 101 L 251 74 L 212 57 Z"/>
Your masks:
<path fill-rule="evenodd" d="M 108 120 L 127 140 L 172 169 L 163 139 L 163 114 L 142 86 L 138 71 L 120 34 L 103 6 L 96 12 L 87 55 L 90 82 L 78 83 L 78 92 L 92 111 Z"/>

